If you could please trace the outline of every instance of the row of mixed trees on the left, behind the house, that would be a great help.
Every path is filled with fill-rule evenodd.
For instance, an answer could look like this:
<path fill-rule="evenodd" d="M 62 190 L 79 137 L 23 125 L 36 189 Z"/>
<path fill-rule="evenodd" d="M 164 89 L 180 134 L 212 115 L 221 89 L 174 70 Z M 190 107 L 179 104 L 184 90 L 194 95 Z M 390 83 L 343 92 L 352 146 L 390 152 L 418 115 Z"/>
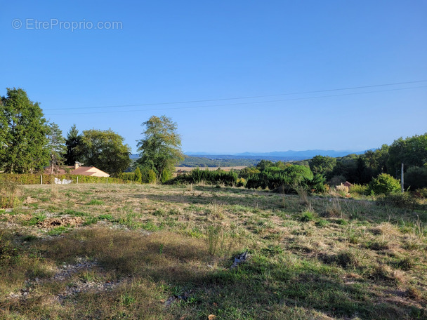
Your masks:
<path fill-rule="evenodd" d="M 111 130 L 72 126 L 67 138 L 57 124 L 48 122 L 37 102 L 21 88 L 8 88 L 0 99 L 0 171 L 5 173 L 55 173 L 75 161 L 117 175 L 131 164 L 131 148 Z"/>

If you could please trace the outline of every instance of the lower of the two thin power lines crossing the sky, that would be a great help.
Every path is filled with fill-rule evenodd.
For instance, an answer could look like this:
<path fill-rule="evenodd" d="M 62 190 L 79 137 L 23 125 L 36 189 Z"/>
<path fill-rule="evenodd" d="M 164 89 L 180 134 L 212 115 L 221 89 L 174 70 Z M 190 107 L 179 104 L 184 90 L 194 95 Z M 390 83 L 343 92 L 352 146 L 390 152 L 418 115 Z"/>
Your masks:
<path fill-rule="evenodd" d="M 421 81 L 416 81 L 421 82 Z M 98 111 L 98 112 L 74 112 L 74 113 L 58 113 L 58 114 L 46 114 L 49 116 L 62 116 L 62 115 L 73 115 L 73 114 L 107 114 L 107 113 L 125 113 L 125 112 L 142 112 L 142 111 L 160 111 L 160 110 L 176 110 L 176 109 L 195 109 L 195 108 L 208 108 L 208 107 L 228 107 L 232 105 L 252 105 L 258 103 L 269 103 L 269 102 L 283 102 L 283 101 L 293 101 L 293 100 L 308 100 L 308 99 L 317 99 L 317 98 L 330 98 L 330 97 L 339 97 L 343 95 L 360 95 L 366 93 L 378 93 L 378 92 L 388 92 L 388 91 L 400 91 L 408 90 L 415 88 L 426 88 L 427 86 L 416 86 L 409 88 L 394 88 L 388 90 L 377 90 L 377 91 L 364 91 L 356 93 L 341 93 L 339 95 L 317 95 L 315 97 L 303 97 L 303 98 L 291 98 L 291 99 L 280 99 L 280 100 L 265 100 L 265 101 L 253 101 L 253 102 L 239 102 L 239 103 L 230 103 L 226 105 L 199 105 L 199 106 L 188 106 L 188 107 L 169 107 L 169 108 L 156 108 L 156 109 L 134 109 L 134 110 L 117 110 L 117 111 Z M 340 90 L 340 89 L 336 89 Z M 211 100 L 209 100 L 211 101 Z M 175 102 L 180 103 L 180 102 Z"/>

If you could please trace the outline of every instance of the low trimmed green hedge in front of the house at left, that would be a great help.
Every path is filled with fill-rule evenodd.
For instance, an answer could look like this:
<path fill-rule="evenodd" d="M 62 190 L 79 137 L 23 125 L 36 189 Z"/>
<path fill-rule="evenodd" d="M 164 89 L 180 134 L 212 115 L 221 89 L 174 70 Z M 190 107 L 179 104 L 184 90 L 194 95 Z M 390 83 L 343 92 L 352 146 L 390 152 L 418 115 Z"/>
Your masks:
<path fill-rule="evenodd" d="M 93 177 L 91 175 L 41 175 L 43 177 L 44 185 L 51 185 L 55 181 L 55 178 L 60 180 L 72 180 L 72 183 L 126 183 L 124 180 L 119 178 L 106 178 L 106 177 Z M 16 182 L 18 185 L 40 185 L 40 175 L 38 174 L 17 174 L 17 173 L 1 173 L 0 181 Z"/>

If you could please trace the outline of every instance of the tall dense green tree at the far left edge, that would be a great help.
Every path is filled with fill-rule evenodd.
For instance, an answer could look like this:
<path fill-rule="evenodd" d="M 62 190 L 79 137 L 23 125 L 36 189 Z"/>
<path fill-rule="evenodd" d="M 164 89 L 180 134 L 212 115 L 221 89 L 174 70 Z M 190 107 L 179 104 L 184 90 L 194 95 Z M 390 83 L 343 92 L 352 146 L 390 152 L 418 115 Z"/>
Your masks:
<path fill-rule="evenodd" d="M 0 105 L 0 161 L 9 173 L 32 173 L 49 163 L 48 126 L 37 102 L 8 88 Z"/>

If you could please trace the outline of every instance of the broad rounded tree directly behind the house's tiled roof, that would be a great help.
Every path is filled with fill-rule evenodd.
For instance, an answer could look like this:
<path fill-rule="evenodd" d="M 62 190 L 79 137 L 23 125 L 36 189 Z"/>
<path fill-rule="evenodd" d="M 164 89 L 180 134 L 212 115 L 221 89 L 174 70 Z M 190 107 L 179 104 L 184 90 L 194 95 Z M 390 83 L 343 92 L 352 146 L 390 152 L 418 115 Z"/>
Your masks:
<path fill-rule="evenodd" d="M 81 154 L 85 166 L 96 166 L 110 175 L 117 175 L 131 164 L 131 147 L 123 142 L 124 138 L 111 129 L 86 130 L 83 131 L 77 152 Z"/>

